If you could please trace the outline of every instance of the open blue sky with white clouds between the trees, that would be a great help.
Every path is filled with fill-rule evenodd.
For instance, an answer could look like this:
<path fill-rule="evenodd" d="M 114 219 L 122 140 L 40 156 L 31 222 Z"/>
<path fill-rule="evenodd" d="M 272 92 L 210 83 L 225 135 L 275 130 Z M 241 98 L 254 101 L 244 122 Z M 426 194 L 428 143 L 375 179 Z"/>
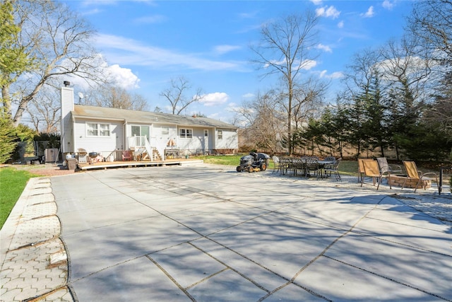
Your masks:
<path fill-rule="evenodd" d="M 403 34 L 412 1 L 64 1 L 97 31 L 95 47 L 119 86 L 169 112 L 160 93 L 184 76 L 206 94 L 187 115 L 231 122 L 233 108 L 278 83 L 261 80 L 249 45 L 263 23 L 310 8 L 318 14 L 319 57 L 305 76 L 331 81 L 334 100 L 352 55 Z M 76 92 L 82 86 L 74 87 Z"/>

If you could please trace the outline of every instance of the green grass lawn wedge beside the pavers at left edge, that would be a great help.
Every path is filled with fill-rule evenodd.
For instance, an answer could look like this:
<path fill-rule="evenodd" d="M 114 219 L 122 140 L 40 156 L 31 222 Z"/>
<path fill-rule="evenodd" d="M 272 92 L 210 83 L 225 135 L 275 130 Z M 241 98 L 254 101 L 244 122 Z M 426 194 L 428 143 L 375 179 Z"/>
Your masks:
<path fill-rule="evenodd" d="M 3 227 L 28 180 L 37 176 L 16 168 L 0 168 L 0 228 Z"/>

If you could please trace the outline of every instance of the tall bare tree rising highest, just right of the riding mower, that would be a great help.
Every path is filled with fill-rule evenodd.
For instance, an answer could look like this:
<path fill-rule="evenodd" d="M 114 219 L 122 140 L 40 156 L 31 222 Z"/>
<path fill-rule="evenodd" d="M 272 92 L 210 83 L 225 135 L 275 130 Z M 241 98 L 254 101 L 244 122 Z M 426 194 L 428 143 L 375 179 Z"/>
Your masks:
<path fill-rule="evenodd" d="M 261 43 L 252 46 L 256 54 L 252 62 L 264 69 L 265 76 L 278 74 L 285 84 L 287 105 L 287 145 L 292 153 L 292 110 L 295 86 L 303 70 L 309 69 L 314 57 L 309 50 L 316 45 L 315 27 L 318 17 L 313 11 L 287 16 L 261 28 Z"/>

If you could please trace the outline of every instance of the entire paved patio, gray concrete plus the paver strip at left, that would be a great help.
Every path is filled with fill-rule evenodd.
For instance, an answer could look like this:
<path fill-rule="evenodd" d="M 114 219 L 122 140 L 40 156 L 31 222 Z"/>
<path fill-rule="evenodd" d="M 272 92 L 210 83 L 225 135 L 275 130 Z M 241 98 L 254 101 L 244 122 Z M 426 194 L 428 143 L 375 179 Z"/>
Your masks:
<path fill-rule="evenodd" d="M 435 188 L 203 164 L 32 185 L 1 229 L 6 301 L 452 301 L 451 199 Z M 13 261 L 28 251 L 39 265 Z"/>

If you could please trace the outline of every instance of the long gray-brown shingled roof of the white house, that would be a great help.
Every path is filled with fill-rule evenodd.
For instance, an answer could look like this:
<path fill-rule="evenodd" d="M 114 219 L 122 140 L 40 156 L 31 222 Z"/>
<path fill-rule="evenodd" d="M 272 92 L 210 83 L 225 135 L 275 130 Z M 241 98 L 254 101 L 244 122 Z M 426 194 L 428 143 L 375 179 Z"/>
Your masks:
<path fill-rule="evenodd" d="M 167 113 L 124 110 L 86 105 L 74 105 L 72 115 L 76 118 L 124 120 L 124 122 L 129 123 L 177 124 L 179 126 L 222 127 L 237 129 L 237 127 L 233 124 L 210 119 L 208 117 L 188 117 L 184 115 L 171 115 Z"/>

